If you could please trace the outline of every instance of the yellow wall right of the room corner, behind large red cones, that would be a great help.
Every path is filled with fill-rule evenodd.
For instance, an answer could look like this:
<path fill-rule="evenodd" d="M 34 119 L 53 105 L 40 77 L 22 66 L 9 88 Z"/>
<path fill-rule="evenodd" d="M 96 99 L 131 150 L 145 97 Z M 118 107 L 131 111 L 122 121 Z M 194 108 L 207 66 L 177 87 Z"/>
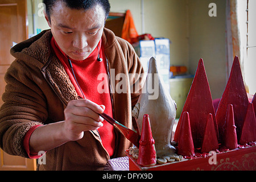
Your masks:
<path fill-rule="evenodd" d="M 195 73 L 203 58 L 213 98 L 220 98 L 226 86 L 226 1 L 189 0 L 189 72 Z M 210 17 L 209 3 L 217 6 Z"/>

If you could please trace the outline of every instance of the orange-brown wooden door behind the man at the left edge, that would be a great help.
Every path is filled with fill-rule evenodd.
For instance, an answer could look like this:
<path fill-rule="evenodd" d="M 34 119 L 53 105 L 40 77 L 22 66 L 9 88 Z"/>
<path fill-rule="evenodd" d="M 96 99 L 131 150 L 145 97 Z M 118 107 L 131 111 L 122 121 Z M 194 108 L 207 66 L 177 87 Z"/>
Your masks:
<path fill-rule="evenodd" d="M 27 38 L 27 0 L 0 0 L 0 105 L 6 85 L 4 76 L 14 61 L 10 49 Z M 0 170 L 34 170 L 35 166 L 35 160 L 11 156 L 0 150 Z"/>

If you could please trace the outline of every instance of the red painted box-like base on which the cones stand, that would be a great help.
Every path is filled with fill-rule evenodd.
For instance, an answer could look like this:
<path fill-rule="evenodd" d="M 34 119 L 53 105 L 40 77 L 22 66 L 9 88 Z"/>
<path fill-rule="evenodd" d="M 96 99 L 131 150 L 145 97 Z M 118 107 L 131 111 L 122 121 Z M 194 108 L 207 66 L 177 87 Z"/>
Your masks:
<path fill-rule="evenodd" d="M 256 146 L 152 167 L 139 166 L 129 150 L 126 150 L 126 155 L 129 157 L 130 171 L 256 171 Z"/>

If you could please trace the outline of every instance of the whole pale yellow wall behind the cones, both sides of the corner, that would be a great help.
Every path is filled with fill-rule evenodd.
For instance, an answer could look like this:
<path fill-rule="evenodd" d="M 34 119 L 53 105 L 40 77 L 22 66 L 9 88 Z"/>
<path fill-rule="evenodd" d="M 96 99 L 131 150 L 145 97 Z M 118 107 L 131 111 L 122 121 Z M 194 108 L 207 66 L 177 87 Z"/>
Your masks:
<path fill-rule="evenodd" d="M 220 98 L 226 85 L 226 2 L 224 0 L 144 0 L 144 32 L 171 40 L 171 64 L 196 72 L 199 59 L 205 69 L 213 98 Z M 216 3 L 217 16 L 210 17 L 209 4 Z M 131 10 L 142 33 L 139 0 L 110 0 L 112 11 Z"/>

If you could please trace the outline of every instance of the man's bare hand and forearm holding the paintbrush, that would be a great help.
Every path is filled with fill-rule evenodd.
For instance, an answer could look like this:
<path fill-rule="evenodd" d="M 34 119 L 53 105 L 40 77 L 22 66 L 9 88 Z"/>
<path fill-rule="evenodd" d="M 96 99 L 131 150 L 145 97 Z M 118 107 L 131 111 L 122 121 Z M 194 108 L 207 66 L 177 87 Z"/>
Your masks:
<path fill-rule="evenodd" d="M 97 105 L 89 100 L 70 101 L 64 110 L 65 121 L 39 126 L 30 137 L 30 154 L 48 151 L 62 144 L 79 140 L 84 131 L 97 130 L 102 127 L 104 105 Z"/>

